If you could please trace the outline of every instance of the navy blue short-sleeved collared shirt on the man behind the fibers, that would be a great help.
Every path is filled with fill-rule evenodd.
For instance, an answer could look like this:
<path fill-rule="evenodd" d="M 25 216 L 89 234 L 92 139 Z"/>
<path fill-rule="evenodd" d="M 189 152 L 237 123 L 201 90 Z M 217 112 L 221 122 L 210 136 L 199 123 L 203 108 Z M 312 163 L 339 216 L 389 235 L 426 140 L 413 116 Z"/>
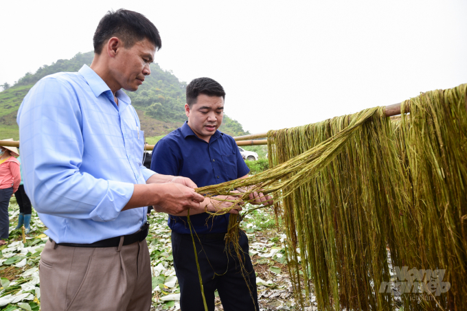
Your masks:
<path fill-rule="evenodd" d="M 190 178 L 198 187 L 233 181 L 250 171 L 235 140 L 216 130 L 209 143 L 199 139 L 187 122 L 163 137 L 152 150 L 151 170 Z M 196 233 L 227 232 L 229 214 L 207 220 L 209 214 L 190 216 Z M 185 216 L 169 216 L 170 229 L 190 233 Z"/>

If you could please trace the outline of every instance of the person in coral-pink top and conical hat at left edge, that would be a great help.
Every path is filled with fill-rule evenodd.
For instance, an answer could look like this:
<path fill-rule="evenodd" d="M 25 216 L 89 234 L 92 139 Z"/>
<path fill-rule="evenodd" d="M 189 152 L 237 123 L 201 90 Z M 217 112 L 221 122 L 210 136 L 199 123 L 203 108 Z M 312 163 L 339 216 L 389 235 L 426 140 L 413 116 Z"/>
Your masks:
<path fill-rule="evenodd" d="M 12 138 L 5 139 L 13 141 Z M 8 205 L 10 198 L 21 183 L 19 171 L 18 149 L 16 147 L 0 146 L 0 246 L 6 244 L 10 220 L 8 218 Z"/>

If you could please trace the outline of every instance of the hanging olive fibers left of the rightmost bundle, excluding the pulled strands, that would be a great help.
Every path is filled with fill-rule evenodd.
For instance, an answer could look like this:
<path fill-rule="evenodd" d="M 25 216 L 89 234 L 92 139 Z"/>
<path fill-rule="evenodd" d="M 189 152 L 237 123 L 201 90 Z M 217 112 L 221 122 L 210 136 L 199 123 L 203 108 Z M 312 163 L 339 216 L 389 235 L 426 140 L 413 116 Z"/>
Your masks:
<path fill-rule="evenodd" d="M 274 154 L 271 164 L 290 161 L 339 135 L 354 118 L 336 117 L 269 133 L 269 154 Z M 390 278 L 385 242 L 389 218 L 381 209 L 387 204 L 387 195 L 379 189 L 389 182 L 389 165 L 379 163 L 385 161 L 387 154 L 383 153 L 392 149 L 395 154 L 394 148 L 380 146 L 382 142 L 390 143 L 390 126 L 384 108 L 379 108 L 333 161 L 282 200 L 288 268 L 302 305 L 306 301 L 301 296 L 304 281 L 306 295 L 314 285 L 320 310 L 391 308 L 390 294 L 374 292 Z"/>

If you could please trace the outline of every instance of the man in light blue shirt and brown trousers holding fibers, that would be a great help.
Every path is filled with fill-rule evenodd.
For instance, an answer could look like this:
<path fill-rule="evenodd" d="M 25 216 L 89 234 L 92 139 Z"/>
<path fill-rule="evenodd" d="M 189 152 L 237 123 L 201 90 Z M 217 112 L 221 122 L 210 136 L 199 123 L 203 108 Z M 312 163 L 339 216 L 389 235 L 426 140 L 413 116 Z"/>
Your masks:
<path fill-rule="evenodd" d="M 43 310 L 150 310 L 146 207 L 200 209 L 189 178 L 141 164 L 144 133 L 130 98 L 161 47 L 128 10 L 94 34 L 91 67 L 41 79 L 18 113 L 25 189 L 49 228 L 41 256 Z"/>

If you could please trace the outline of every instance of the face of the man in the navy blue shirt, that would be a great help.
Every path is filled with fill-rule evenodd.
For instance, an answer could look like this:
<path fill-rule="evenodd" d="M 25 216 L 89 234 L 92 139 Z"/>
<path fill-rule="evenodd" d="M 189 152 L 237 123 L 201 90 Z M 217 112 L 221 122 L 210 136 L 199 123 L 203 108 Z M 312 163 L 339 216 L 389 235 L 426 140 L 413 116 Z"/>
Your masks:
<path fill-rule="evenodd" d="M 185 104 L 188 125 L 199 138 L 209 142 L 216 130 L 222 124 L 224 117 L 223 97 L 198 95 L 196 104 L 192 108 Z"/>

